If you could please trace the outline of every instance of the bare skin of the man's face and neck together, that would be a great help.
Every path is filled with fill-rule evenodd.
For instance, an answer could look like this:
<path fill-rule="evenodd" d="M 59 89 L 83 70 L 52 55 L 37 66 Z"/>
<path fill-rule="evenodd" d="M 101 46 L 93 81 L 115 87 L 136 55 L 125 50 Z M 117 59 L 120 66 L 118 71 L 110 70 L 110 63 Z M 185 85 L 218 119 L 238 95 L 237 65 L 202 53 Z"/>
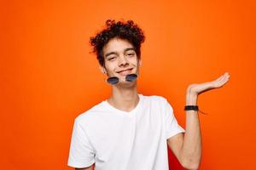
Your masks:
<path fill-rule="evenodd" d="M 118 38 L 111 39 L 103 48 L 105 67 L 101 66 L 102 72 L 108 77 L 119 77 L 119 82 L 112 86 L 112 95 L 107 101 L 121 111 L 131 111 L 139 101 L 137 82 L 125 81 L 127 74 L 139 75 L 139 65 L 142 65 L 132 48 L 130 42 Z M 125 71 L 127 69 L 132 70 Z"/>

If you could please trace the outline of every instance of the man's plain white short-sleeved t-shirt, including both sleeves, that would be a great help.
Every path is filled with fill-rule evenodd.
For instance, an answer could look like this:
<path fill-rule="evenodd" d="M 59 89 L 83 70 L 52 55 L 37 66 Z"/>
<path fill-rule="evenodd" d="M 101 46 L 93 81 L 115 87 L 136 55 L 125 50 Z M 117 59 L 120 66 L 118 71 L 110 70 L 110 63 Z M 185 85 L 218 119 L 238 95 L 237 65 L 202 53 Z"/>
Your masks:
<path fill-rule="evenodd" d="M 163 97 L 139 94 L 136 108 L 129 112 L 104 100 L 75 119 L 68 166 L 168 170 L 166 139 L 184 132 Z"/>

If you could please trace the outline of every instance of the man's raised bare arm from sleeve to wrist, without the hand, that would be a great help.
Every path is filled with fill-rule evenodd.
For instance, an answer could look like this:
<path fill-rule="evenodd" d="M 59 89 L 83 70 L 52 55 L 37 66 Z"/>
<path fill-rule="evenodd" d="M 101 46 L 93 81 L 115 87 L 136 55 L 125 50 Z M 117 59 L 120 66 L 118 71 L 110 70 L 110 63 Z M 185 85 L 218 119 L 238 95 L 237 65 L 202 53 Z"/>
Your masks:
<path fill-rule="evenodd" d="M 196 96 L 187 94 L 187 105 L 196 105 Z M 201 161 L 201 130 L 197 111 L 186 111 L 186 133 L 167 140 L 177 160 L 186 169 L 198 169 Z"/>

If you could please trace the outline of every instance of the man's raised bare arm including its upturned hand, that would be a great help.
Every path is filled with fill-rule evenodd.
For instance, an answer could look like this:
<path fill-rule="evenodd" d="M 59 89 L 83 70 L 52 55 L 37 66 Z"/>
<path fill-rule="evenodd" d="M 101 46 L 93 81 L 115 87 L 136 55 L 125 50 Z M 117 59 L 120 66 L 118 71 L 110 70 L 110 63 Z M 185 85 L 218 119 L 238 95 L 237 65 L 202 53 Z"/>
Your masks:
<path fill-rule="evenodd" d="M 190 85 L 187 89 L 186 105 L 196 105 L 199 94 L 222 87 L 229 77 L 226 73 L 215 81 Z M 201 129 L 197 111 L 186 111 L 186 133 L 178 133 L 168 139 L 167 143 L 183 167 L 198 169 L 201 162 Z"/>

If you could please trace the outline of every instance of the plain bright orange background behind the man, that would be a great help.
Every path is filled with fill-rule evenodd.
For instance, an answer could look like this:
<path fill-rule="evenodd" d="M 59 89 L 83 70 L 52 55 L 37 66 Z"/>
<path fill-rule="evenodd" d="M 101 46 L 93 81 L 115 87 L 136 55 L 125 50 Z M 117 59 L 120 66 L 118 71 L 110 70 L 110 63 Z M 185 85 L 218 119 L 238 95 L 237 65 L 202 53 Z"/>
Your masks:
<path fill-rule="evenodd" d="M 89 54 L 107 19 L 143 28 L 139 93 L 166 97 L 183 127 L 189 84 L 230 72 L 199 97 L 200 169 L 256 169 L 255 11 L 253 1 L 3 1 L 0 169 L 72 169 L 74 118 L 111 92 Z"/>

